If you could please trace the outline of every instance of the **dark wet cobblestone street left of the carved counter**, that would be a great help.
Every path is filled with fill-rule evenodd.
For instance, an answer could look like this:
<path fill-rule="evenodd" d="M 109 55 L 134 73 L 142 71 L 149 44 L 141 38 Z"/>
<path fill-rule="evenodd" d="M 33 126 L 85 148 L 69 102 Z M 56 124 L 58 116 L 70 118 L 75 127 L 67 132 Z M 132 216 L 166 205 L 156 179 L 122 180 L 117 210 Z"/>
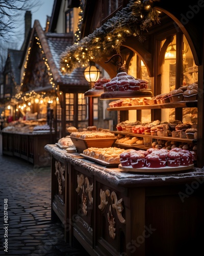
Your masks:
<path fill-rule="evenodd" d="M 16 157 L 2 156 L 1 150 L 0 175 L 0 255 L 88 255 L 80 244 L 75 248 L 66 244 L 61 223 L 51 222 L 50 167 L 34 168 Z"/>

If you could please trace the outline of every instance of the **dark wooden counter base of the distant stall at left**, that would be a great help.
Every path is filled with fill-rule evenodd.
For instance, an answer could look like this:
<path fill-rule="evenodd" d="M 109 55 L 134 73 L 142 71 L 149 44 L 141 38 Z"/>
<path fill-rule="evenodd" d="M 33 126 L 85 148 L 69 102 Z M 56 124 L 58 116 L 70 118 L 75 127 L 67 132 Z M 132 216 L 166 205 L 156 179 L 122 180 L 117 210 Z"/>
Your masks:
<path fill-rule="evenodd" d="M 50 143 L 49 133 L 4 132 L 2 154 L 16 156 L 33 163 L 36 167 L 50 166 L 50 155 L 44 146 Z"/>

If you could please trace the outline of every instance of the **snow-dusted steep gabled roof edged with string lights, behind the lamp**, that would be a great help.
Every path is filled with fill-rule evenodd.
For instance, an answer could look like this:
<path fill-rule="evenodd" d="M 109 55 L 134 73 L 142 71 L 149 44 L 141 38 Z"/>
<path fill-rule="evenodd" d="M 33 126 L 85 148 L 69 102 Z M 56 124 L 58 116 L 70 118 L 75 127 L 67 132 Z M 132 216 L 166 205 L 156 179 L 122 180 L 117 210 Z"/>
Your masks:
<path fill-rule="evenodd" d="M 36 39 L 38 38 L 38 39 Z M 83 75 L 83 69 L 78 68 L 73 70 L 71 74 L 63 75 L 60 71 L 60 55 L 66 49 L 67 46 L 71 46 L 73 43 L 73 34 L 64 33 L 45 33 L 38 20 L 35 20 L 34 27 L 31 33 L 30 44 L 28 46 L 29 57 L 26 59 L 27 68 L 24 70 L 24 80 L 31 72 L 27 70 L 32 69 L 32 61 L 35 54 L 35 44 L 40 44 L 42 48 L 44 58 L 47 59 L 47 64 L 50 68 L 49 73 L 52 74 L 55 83 L 65 84 L 67 86 L 88 86 L 88 82 L 85 80 Z M 27 79 L 28 81 L 28 79 Z M 51 84 L 47 84 L 46 87 Z"/>

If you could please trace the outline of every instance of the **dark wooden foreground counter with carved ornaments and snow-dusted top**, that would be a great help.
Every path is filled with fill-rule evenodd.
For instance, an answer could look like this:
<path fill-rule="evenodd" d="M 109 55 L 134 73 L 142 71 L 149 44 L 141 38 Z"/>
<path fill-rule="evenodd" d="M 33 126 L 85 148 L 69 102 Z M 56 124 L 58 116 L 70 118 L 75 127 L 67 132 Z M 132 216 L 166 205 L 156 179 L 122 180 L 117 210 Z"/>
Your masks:
<path fill-rule="evenodd" d="M 204 170 L 136 174 L 46 145 L 52 156 L 52 219 L 91 255 L 198 253 Z"/>

